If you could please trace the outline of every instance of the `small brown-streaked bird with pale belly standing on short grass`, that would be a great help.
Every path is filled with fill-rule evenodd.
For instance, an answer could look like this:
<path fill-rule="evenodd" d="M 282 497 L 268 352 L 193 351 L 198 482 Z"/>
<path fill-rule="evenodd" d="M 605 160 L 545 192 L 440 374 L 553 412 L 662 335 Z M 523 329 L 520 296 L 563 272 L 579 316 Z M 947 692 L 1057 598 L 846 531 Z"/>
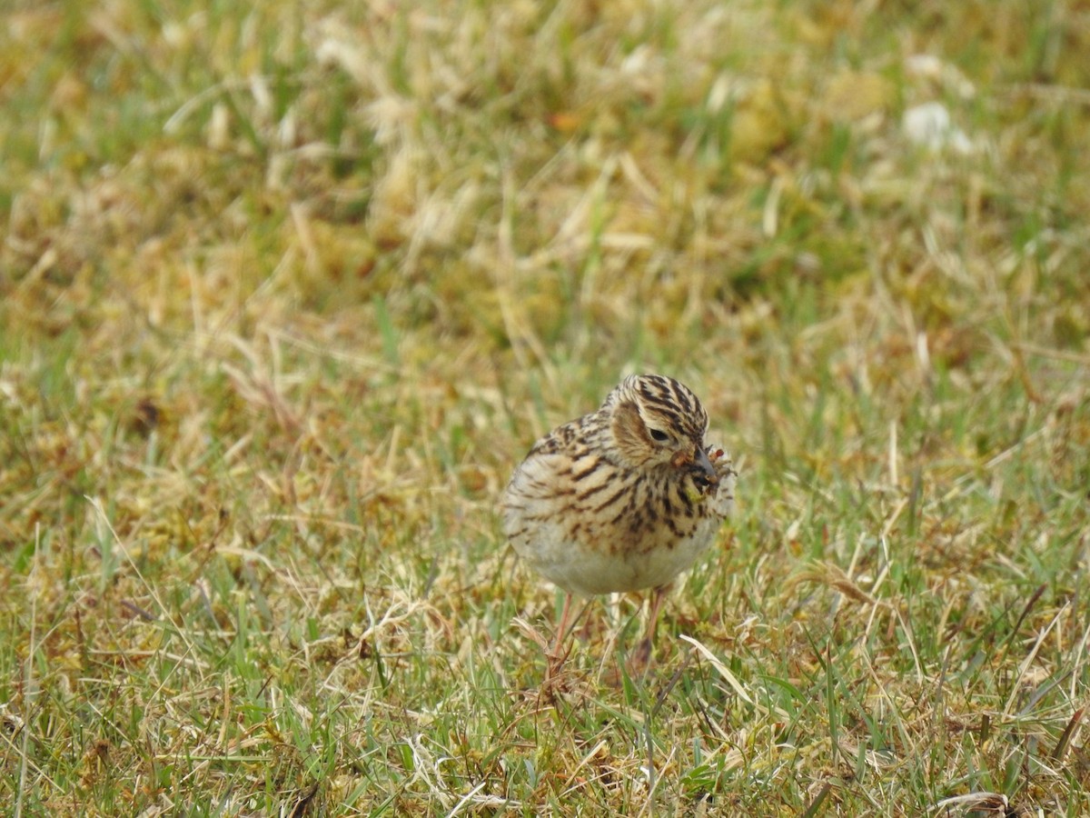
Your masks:
<path fill-rule="evenodd" d="M 707 428 L 688 386 L 666 375 L 630 375 L 596 410 L 534 443 L 516 467 L 500 503 L 504 533 L 565 592 L 547 675 L 566 659 L 574 597 L 650 588 L 647 630 L 635 654 L 646 667 L 671 581 L 712 544 L 734 507 L 737 471 L 722 448 L 705 443 Z"/>

